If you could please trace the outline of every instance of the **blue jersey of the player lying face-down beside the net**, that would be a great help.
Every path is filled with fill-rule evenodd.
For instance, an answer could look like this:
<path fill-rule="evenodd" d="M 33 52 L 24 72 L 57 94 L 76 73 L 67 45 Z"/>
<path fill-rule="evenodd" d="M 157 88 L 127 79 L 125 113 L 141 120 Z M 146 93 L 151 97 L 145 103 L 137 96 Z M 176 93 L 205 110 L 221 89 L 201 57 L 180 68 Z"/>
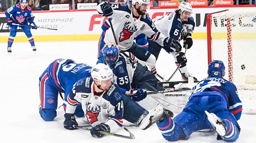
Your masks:
<path fill-rule="evenodd" d="M 203 96 L 200 92 L 217 91 L 223 101 L 227 102 L 227 109 L 239 120 L 242 115 L 242 102 L 238 97 L 236 86 L 220 77 L 206 77 L 200 81 L 195 87 L 191 99 L 194 96 Z"/>

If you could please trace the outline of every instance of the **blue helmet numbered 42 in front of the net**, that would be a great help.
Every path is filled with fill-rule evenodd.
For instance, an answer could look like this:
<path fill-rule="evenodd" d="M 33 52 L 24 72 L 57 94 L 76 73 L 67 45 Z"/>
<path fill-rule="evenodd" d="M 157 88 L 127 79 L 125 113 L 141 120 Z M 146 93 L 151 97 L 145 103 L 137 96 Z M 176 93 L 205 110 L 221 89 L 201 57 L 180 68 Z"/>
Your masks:
<path fill-rule="evenodd" d="M 224 77 L 225 76 L 225 65 L 222 61 L 219 60 L 213 60 L 208 65 L 208 76 L 218 76 L 218 77 Z"/>

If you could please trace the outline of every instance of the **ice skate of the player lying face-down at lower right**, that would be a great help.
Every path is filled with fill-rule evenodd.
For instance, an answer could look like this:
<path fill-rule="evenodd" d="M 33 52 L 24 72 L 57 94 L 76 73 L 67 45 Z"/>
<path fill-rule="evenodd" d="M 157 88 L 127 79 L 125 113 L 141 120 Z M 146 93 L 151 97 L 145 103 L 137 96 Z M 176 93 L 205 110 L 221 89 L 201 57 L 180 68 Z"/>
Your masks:
<path fill-rule="evenodd" d="M 223 121 L 213 113 L 209 113 L 207 111 L 204 112 L 217 134 L 219 134 L 221 137 L 225 137 L 227 134 L 227 129 Z"/>

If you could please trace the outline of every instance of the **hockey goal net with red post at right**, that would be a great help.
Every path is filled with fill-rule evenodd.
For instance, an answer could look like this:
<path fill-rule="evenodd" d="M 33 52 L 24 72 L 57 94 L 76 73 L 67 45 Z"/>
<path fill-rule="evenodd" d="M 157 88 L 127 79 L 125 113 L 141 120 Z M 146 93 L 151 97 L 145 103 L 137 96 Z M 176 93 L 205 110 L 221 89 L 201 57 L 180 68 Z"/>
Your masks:
<path fill-rule="evenodd" d="M 212 60 L 224 62 L 224 78 L 236 85 L 243 113 L 255 114 L 256 8 L 208 14 L 207 43 L 208 64 Z"/>

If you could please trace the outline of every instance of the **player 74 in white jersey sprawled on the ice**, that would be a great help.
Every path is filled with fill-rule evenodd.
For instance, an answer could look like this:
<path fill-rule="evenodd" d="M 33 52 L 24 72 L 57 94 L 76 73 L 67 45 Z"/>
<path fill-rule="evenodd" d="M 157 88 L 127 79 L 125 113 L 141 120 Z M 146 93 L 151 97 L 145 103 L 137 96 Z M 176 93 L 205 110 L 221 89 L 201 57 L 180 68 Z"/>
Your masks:
<path fill-rule="evenodd" d="M 78 124 L 74 112 L 78 104 L 82 104 L 85 118 L 93 126 L 91 129 L 93 137 L 104 135 L 98 131 L 115 132 L 122 127 L 123 119 L 129 122 L 136 119 L 137 125 L 141 129 L 147 129 L 163 118 L 164 110 L 159 104 L 150 113 L 142 107 L 138 108 L 138 111 L 128 109 L 127 106 L 132 107 L 138 104 L 124 101 L 128 97 L 121 93 L 115 83 L 111 82 L 114 74 L 106 65 L 99 63 L 91 69 L 91 75 L 92 77 L 77 81 L 69 93 L 66 114 L 64 115 L 64 128 L 77 129 L 75 126 Z M 144 114 L 138 114 L 140 111 L 143 111 Z"/>

